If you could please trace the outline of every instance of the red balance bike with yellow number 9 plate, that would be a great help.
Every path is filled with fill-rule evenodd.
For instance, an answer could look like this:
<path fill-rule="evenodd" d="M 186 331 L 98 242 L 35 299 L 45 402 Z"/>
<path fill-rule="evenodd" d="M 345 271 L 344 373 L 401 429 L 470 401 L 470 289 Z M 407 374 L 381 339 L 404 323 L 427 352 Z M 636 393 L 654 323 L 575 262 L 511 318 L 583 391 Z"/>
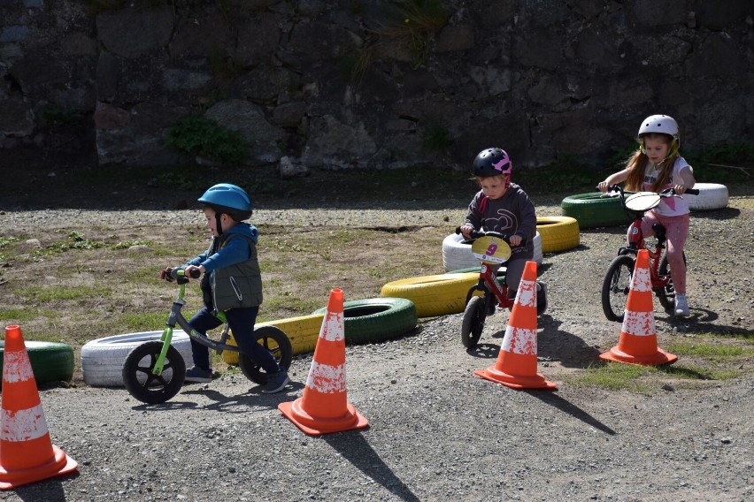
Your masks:
<path fill-rule="evenodd" d="M 461 233 L 460 227 L 456 233 Z M 479 343 L 487 316 L 496 307 L 512 308 L 514 299 L 508 298 L 505 284 L 506 269 L 502 265 L 511 258 L 508 237 L 498 232 L 472 232 L 472 255 L 481 260 L 479 282 L 466 294 L 466 308 L 461 322 L 461 343 L 471 349 Z M 523 242 L 522 242 L 523 244 Z M 499 268 L 498 268 L 499 266 Z M 544 285 L 537 290 L 537 315 L 547 308 Z"/>

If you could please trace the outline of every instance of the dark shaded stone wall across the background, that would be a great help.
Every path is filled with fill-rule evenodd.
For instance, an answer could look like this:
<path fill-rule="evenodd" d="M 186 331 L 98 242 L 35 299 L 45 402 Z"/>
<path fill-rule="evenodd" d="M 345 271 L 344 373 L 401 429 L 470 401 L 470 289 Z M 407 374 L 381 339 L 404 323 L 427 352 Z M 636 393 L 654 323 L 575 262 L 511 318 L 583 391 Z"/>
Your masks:
<path fill-rule="evenodd" d="M 193 161 L 164 137 L 203 114 L 249 164 L 458 167 L 495 145 L 597 166 L 666 113 L 699 150 L 754 138 L 752 18 L 750 0 L 0 0 L 0 148 Z"/>

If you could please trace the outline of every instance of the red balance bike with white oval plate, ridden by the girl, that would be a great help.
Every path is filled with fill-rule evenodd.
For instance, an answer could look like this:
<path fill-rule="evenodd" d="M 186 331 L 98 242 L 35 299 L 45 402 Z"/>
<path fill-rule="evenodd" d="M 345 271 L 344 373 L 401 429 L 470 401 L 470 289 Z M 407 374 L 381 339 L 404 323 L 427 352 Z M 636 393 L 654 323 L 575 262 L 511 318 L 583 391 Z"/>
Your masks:
<path fill-rule="evenodd" d="M 687 188 L 686 194 L 698 195 L 699 190 Z M 628 290 L 631 287 L 631 275 L 634 273 L 634 264 L 639 249 L 647 249 L 650 254 L 650 280 L 652 290 L 658 297 L 660 304 L 666 310 L 675 306 L 675 290 L 673 278 L 670 275 L 670 264 L 667 262 L 665 253 L 666 229 L 662 224 L 653 224 L 655 232 L 655 245 L 651 247 L 644 240 L 642 232 L 642 218 L 644 213 L 657 207 L 665 197 L 681 197 L 675 194 L 673 188 L 663 190 L 659 194 L 654 192 L 636 192 L 627 195 L 619 185 L 608 188 L 603 197 L 619 197 L 620 204 L 634 217 L 634 223 L 628 227 L 627 246 L 620 247 L 607 273 L 604 275 L 602 284 L 602 308 L 604 316 L 610 321 L 623 322 L 626 311 Z M 686 262 L 686 255 L 683 255 Z"/>

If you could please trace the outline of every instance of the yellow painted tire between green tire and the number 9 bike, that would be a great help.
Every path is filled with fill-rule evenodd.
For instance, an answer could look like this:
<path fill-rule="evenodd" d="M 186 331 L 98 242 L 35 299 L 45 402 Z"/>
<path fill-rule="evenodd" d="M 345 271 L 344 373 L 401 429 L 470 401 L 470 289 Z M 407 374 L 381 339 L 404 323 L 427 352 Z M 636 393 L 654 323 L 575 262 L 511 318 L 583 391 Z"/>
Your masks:
<path fill-rule="evenodd" d="M 383 285 L 380 294 L 412 300 L 419 317 L 446 316 L 464 311 L 466 294 L 477 281 L 474 272 L 407 278 Z"/>

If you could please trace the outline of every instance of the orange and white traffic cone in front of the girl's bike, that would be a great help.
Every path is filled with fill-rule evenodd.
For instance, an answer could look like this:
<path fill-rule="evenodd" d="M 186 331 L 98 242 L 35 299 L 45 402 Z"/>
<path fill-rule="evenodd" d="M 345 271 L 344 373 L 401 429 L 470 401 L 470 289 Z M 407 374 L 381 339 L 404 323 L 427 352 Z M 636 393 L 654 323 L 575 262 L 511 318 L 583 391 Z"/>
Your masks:
<path fill-rule="evenodd" d="M 618 345 L 604 354 L 599 354 L 599 357 L 605 361 L 644 366 L 657 366 L 678 359 L 677 355 L 668 354 L 658 348 L 655 313 L 652 307 L 650 253 L 646 249 L 640 249 L 639 255 L 636 256 Z"/>

